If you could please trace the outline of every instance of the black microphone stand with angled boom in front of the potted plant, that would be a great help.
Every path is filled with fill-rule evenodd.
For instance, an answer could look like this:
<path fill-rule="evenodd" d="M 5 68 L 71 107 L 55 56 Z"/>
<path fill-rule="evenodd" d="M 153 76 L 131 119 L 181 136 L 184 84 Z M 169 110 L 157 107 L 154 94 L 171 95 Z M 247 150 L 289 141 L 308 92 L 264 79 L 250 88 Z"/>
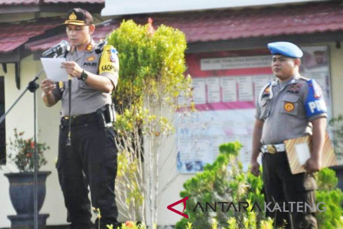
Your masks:
<path fill-rule="evenodd" d="M 34 172 L 33 172 L 33 200 L 34 200 L 34 229 L 38 229 L 38 192 L 37 192 L 37 180 L 38 180 L 38 157 L 37 157 L 37 130 L 36 130 L 36 90 L 39 88 L 38 83 L 36 81 L 39 79 L 39 76 L 43 73 L 44 69 L 40 70 L 37 76 L 31 80 L 26 89 L 19 95 L 19 97 L 14 101 L 12 106 L 5 112 L 0 118 L 0 124 L 5 119 L 6 115 L 12 110 L 12 108 L 17 104 L 17 102 L 23 97 L 23 95 L 29 90 L 33 93 L 33 119 L 34 119 Z"/>

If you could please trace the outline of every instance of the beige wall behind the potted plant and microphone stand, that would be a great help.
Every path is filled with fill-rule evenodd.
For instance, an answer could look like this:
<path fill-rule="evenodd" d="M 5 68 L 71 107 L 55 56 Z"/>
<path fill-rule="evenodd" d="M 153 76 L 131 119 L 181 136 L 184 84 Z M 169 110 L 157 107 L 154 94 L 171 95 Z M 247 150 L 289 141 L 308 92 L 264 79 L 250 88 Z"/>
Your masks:
<path fill-rule="evenodd" d="M 15 99 L 25 90 L 27 83 L 36 75 L 40 70 L 39 61 L 33 60 L 33 55 L 24 58 L 21 61 L 21 90 L 17 90 L 14 79 L 14 64 L 8 64 L 8 73 L 5 74 L 0 70 L 0 75 L 5 76 L 5 109 L 8 110 L 10 105 Z M 40 77 L 38 82 L 45 78 L 44 74 Z M 47 194 L 45 203 L 40 213 L 49 213 L 48 224 L 65 224 L 66 223 L 66 210 L 62 199 L 62 193 L 59 188 L 57 173 L 55 169 L 54 158 L 57 156 L 57 136 L 58 136 L 58 117 L 59 106 L 56 105 L 52 108 L 44 106 L 40 99 L 42 91 L 37 91 L 37 140 L 39 142 L 47 142 L 47 145 L 51 147 L 50 150 L 45 152 L 47 158 L 47 165 L 40 170 L 52 171 L 52 174 L 47 179 Z M 13 128 L 16 127 L 18 131 L 25 131 L 25 137 L 29 138 L 33 136 L 34 132 L 33 123 L 33 93 L 27 91 L 23 98 L 13 108 L 6 118 L 6 137 L 13 136 Z M 7 141 L 8 142 L 8 141 Z M 2 166 L 3 171 L 13 171 L 15 168 L 10 165 Z M 0 227 L 9 227 L 10 221 L 7 219 L 7 215 L 15 214 L 15 211 L 10 203 L 8 193 L 8 181 L 0 171 L 0 201 L 2 206 L 0 208 Z"/>

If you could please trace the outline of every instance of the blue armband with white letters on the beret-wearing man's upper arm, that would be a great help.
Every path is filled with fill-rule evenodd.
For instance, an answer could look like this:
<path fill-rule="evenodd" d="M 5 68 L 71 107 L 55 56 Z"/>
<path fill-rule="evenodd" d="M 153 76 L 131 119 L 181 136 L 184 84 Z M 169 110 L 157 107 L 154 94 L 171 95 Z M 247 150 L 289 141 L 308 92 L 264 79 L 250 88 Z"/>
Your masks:
<path fill-rule="evenodd" d="M 326 104 L 320 86 L 314 79 L 307 81 L 308 94 L 305 100 L 306 117 L 327 113 Z"/>

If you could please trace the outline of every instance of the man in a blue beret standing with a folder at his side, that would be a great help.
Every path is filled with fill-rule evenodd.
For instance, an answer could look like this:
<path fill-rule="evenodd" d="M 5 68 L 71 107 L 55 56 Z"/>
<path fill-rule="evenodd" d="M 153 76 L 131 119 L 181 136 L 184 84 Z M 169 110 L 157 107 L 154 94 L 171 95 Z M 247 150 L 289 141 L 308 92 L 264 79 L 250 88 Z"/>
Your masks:
<path fill-rule="evenodd" d="M 314 205 L 316 182 L 313 172 L 321 168 L 327 109 L 319 85 L 300 76 L 300 58 L 303 52 L 289 42 L 268 44 L 272 70 L 276 77 L 260 92 L 252 139 L 251 172 L 259 175 L 257 158 L 262 152 L 263 183 L 267 204 L 288 205 L 289 212 L 270 212 L 276 226 L 286 228 L 317 228 L 314 211 L 297 207 L 291 202 Z M 310 77 L 310 76 L 309 76 Z M 311 157 L 305 164 L 306 173 L 292 174 L 285 153 L 284 140 L 312 135 Z M 271 207 L 272 209 L 272 207 Z"/>

